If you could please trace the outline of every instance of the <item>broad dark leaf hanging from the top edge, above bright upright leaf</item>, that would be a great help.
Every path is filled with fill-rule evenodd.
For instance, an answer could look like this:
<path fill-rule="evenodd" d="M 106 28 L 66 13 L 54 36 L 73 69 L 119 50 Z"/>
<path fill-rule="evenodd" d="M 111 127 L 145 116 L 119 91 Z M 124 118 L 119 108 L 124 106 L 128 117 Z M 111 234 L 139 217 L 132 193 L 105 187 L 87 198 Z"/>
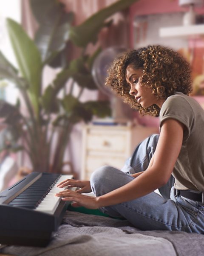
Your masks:
<path fill-rule="evenodd" d="M 66 13 L 56 0 L 30 0 L 30 4 L 40 25 L 35 34 L 35 43 L 42 61 L 48 63 L 65 48 L 74 15 L 73 12 Z"/>

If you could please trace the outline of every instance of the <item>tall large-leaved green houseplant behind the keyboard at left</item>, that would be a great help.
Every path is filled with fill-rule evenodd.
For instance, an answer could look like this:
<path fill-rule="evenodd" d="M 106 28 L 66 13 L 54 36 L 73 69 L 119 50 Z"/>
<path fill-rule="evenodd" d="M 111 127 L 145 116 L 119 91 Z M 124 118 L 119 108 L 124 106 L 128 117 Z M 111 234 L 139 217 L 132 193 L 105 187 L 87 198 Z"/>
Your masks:
<path fill-rule="evenodd" d="M 95 44 L 102 27 L 111 24 L 105 22 L 109 16 L 135 1 L 119 0 L 81 25 L 72 26 L 74 14 L 66 13 L 62 4 L 56 0 L 30 0 L 39 23 L 34 39 L 28 37 L 20 24 L 7 19 L 18 70 L 0 52 L 0 78 L 12 81 L 19 89 L 21 98 L 16 105 L 0 101 L 0 118 L 6 125 L 0 131 L 0 151 L 25 151 L 35 171 L 62 171 L 73 126 L 80 121 L 90 121 L 93 115 L 104 117 L 111 113 L 107 101 L 80 101 L 84 88 L 97 90 L 91 67 L 100 48 L 90 55 L 86 53 L 86 47 L 90 43 Z M 68 61 L 66 56 L 70 44 L 79 47 L 81 55 Z M 43 90 L 45 65 L 61 67 L 61 70 Z M 77 82 L 81 88 L 78 96 L 74 96 L 71 89 L 59 97 L 59 92 L 66 87 L 69 79 Z M 21 110 L 22 100 L 26 103 L 25 113 Z"/>

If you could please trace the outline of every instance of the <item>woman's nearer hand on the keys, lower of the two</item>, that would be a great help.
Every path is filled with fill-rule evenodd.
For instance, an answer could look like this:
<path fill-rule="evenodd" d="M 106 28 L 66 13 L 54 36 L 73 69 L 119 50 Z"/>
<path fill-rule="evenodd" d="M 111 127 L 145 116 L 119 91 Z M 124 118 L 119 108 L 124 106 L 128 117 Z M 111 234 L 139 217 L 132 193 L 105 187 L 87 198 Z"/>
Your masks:
<path fill-rule="evenodd" d="M 70 189 L 65 189 L 57 194 L 62 198 L 63 201 L 74 201 L 71 205 L 73 207 L 86 207 L 88 209 L 98 209 L 97 197 L 82 195 L 77 192 L 74 192 Z"/>

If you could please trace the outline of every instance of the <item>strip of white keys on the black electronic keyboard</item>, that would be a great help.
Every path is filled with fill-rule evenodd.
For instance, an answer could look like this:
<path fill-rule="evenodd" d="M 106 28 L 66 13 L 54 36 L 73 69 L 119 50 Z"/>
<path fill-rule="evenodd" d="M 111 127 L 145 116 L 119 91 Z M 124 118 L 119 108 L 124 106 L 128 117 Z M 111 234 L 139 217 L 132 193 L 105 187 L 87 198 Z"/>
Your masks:
<path fill-rule="evenodd" d="M 59 202 L 61 201 L 61 198 L 55 196 L 55 194 L 57 192 L 67 189 L 67 186 L 65 186 L 64 188 L 58 188 L 57 184 L 63 180 L 72 179 L 72 178 L 73 178 L 72 175 L 62 175 L 59 178 L 59 180 L 57 181 L 57 183 L 54 185 L 54 187 L 51 189 L 51 191 L 48 193 L 48 195 L 45 196 L 45 198 L 36 207 L 35 210 L 40 211 L 40 212 L 54 214 L 55 210 L 57 209 L 57 206 L 59 205 Z M 72 189 L 72 188 L 70 188 L 70 189 Z"/>

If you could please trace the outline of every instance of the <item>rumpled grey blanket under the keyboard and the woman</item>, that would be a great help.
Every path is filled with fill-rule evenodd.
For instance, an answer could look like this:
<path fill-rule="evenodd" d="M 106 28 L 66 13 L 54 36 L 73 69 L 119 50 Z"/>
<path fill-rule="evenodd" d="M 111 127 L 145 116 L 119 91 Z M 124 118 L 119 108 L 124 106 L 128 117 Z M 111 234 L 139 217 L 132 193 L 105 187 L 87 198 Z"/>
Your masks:
<path fill-rule="evenodd" d="M 128 221 L 67 211 L 47 247 L 7 246 L 1 253 L 17 256 L 202 256 L 204 236 L 141 231 Z"/>

